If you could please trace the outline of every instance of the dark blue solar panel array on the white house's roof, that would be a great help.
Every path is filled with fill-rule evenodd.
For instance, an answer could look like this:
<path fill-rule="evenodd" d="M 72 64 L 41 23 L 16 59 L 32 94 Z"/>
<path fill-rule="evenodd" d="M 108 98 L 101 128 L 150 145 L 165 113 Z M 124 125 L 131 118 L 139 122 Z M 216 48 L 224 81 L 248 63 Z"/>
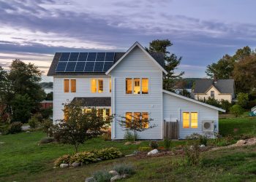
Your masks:
<path fill-rule="evenodd" d="M 62 52 L 56 72 L 105 72 L 114 58 L 115 52 Z"/>

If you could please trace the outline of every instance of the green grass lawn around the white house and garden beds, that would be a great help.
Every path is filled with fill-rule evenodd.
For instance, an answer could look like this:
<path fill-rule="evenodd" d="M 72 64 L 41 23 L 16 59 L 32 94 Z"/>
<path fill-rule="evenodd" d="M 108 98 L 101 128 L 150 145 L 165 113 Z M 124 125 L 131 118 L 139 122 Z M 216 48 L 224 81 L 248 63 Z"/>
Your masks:
<path fill-rule="evenodd" d="M 220 119 L 222 135 L 255 135 L 256 118 L 241 117 Z M 238 128 L 237 132 L 233 132 Z M 53 169 L 54 159 L 63 154 L 72 154 L 69 145 L 43 144 L 38 141 L 45 137 L 43 132 L 22 132 L 15 135 L 1 135 L 0 181 L 84 181 L 95 170 L 108 169 L 116 163 L 132 163 L 138 171 L 127 181 L 256 181 L 256 146 L 208 151 L 203 153 L 200 166 L 184 165 L 182 157 L 154 157 L 135 159 L 122 157 L 73 169 Z M 186 141 L 173 141 L 172 146 Z M 140 145 L 125 146 L 124 141 L 103 141 L 94 138 L 80 146 L 80 151 L 116 147 L 124 154 L 132 154 Z M 162 142 L 160 142 L 162 146 Z"/>

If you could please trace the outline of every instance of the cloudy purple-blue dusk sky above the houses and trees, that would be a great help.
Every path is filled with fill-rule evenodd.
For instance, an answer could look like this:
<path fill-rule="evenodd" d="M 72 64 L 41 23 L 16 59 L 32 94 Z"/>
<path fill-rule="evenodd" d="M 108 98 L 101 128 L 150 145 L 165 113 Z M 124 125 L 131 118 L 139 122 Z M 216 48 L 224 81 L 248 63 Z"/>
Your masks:
<path fill-rule="evenodd" d="M 170 39 L 176 72 L 206 77 L 208 64 L 256 48 L 255 0 L 0 0 L 0 66 L 18 58 L 47 74 L 55 52 L 124 52 Z M 52 78 L 43 76 L 43 81 Z"/>

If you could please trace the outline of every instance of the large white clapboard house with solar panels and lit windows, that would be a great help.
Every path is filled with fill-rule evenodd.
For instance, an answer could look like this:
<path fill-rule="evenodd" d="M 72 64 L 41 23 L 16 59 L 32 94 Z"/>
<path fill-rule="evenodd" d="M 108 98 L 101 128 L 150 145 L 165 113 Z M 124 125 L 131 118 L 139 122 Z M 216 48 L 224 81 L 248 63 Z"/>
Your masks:
<path fill-rule="evenodd" d="M 58 52 L 48 76 L 53 76 L 53 120 L 64 118 L 64 104 L 80 100 L 84 109 L 96 107 L 103 116 L 115 114 L 111 138 L 123 139 L 121 116 L 142 114 L 156 127 L 139 133 L 140 139 L 162 139 L 164 120 L 178 122 L 178 138 L 194 132 L 218 132 L 221 108 L 162 90 L 166 74 L 162 54 L 148 53 L 138 43 L 127 52 Z M 210 129 L 203 130 L 205 122 Z M 207 128 L 206 128 L 207 129 Z"/>

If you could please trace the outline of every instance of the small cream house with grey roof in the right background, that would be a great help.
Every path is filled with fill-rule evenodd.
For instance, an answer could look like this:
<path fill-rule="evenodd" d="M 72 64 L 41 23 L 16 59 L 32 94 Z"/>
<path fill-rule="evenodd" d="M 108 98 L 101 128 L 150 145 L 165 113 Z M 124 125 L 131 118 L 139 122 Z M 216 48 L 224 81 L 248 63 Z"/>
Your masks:
<path fill-rule="evenodd" d="M 196 100 L 228 100 L 235 98 L 235 83 L 233 79 L 198 79 L 195 81 L 194 95 Z"/>

